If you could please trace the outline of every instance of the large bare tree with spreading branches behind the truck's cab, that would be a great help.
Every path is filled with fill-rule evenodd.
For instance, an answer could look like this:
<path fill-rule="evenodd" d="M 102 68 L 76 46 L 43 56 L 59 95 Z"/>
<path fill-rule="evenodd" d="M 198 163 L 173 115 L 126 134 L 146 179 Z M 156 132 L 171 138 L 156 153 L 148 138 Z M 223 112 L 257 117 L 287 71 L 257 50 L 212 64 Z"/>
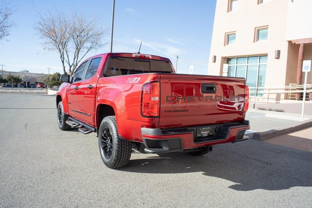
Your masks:
<path fill-rule="evenodd" d="M 109 28 L 100 24 L 95 15 L 81 11 L 66 12 L 55 10 L 38 15 L 34 29 L 37 31 L 45 49 L 59 53 L 66 74 L 66 66 L 72 75 L 79 62 L 90 51 L 96 51 L 108 44 L 103 42 Z"/>

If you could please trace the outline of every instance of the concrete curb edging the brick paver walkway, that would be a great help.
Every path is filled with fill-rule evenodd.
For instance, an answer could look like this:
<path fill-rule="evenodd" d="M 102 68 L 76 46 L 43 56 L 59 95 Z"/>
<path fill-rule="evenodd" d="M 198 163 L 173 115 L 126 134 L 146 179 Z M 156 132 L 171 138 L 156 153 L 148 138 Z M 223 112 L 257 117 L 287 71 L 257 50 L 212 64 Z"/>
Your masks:
<path fill-rule="evenodd" d="M 281 128 L 272 129 L 266 132 L 255 132 L 253 133 L 251 138 L 262 141 L 262 140 L 266 140 L 272 137 L 280 136 L 285 133 L 290 133 L 290 132 L 294 132 L 303 128 L 307 128 L 310 126 L 312 126 L 312 119 L 298 122 L 296 123 L 295 126 L 291 124 L 291 125 L 287 125 Z"/>

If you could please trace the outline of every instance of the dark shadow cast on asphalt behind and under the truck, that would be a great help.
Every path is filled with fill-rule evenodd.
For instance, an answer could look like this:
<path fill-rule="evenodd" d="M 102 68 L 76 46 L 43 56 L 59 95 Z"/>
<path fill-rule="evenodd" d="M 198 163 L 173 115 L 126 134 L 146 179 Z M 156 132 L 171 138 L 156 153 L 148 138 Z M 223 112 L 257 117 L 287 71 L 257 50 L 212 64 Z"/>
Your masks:
<path fill-rule="evenodd" d="M 222 178 L 236 184 L 237 191 L 256 189 L 283 190 L 295 186 L 312 186 L 312 153 L 249 139 L 235 144 L 215 145 L 203 156 L 185 152 L 142 154 L 141 159 L 130 159 L 120 171 L 139 173 L 198 172 Z M 134 157 L 137 157 L 134 154 Z M 181 175 L 177 175 L 180 177 Z M 200 176 L 198 176 L 200 177 Z"/>

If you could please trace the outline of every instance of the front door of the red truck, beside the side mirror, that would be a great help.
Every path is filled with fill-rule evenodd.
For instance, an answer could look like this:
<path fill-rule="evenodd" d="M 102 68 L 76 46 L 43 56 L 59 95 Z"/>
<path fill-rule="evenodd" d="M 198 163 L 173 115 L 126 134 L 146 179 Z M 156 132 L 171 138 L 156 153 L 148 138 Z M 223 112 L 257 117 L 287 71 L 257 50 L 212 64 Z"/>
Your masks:
<path fill-rule="evenodd" d="M 85 67 L 87 65 L 88 61 L 81 64 L 77 70 L 75 71 L 73 77 L 72 77 L 72 83 L 67 88 L 67 100 L 68 100 L 68 109 L 69 114 L 80 118 L 81 113 L 79 109 L 79 88 L 82 82 L 82 77 L 84 75 Z"/>

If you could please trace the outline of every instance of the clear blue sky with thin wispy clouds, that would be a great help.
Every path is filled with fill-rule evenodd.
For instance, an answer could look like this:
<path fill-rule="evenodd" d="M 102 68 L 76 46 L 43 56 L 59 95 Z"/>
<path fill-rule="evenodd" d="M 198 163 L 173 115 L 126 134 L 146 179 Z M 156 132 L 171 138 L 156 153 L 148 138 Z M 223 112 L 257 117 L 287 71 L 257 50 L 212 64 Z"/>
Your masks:
<path fill-rule="evenodd" d="M 12 4 L 17 9 L 12 15 L 17 27 L 12 28 L 9 41 L 0 41 L 0 64 L 7 71 L 46 73 L 51 67 L 50 73 L 62 73 L 58 54 L 43 50 L 32 28 L 37 12 L 83 9 L 96 14 L 103 26 L 111 25 L 112 0 L 14 0 Z M 194 74 L 207 74 L 215 6 L 216 0 L 115 0 L 113 52 L 138 51 L 142 41 L 141 53 L 168 57 L 174 66 L 178 55 L 178 73 L 188 73 L 194 65 Z M 110 42 L 110 35 L 106 41 Z M 108 44 L 85 58 L 109 51 Z"/>

